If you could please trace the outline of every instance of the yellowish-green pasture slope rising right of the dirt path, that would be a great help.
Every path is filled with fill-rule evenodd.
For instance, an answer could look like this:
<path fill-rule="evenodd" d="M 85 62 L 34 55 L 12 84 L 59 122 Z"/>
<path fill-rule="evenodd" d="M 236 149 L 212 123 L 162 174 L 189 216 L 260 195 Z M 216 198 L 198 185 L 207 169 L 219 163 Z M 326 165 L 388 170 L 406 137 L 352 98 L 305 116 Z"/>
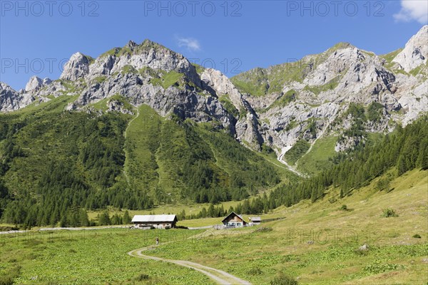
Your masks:
<path fill-rule="evenodd" d="M 426 284 L 428 172 L 407 172 L 389 193 L 376 190 L 375 182 L 350 197 L 340 199 L 332 189 L 314 204 L 304 201 L 263 215 L 285 217 L 263 224 L 271 232 L 207 232 L 205 239 L 168 244 L 151 254 L 227 270 L 253 284 L 270 284 L 279 272 L 300 284 Z M 386 208 L 398 217 L 382 217 Z M 358 252 L 364 243 L 369 251 Z"/>

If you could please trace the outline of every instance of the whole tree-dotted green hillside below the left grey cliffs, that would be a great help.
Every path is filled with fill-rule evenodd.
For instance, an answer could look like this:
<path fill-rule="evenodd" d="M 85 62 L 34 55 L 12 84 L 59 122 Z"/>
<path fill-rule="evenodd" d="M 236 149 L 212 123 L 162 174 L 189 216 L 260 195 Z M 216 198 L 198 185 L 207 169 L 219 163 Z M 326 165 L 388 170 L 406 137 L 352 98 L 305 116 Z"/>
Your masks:
<path fill-rule="evenodd" d="M 161 118 L 146 105 L 138 116 L 98 113 L 107 100 L 94 113 L 63 111 L 75 99 L 0 115 L 1 221 L 86 225 L 82 209 L 240 200 L 284 179 L 215 123 Z"/>

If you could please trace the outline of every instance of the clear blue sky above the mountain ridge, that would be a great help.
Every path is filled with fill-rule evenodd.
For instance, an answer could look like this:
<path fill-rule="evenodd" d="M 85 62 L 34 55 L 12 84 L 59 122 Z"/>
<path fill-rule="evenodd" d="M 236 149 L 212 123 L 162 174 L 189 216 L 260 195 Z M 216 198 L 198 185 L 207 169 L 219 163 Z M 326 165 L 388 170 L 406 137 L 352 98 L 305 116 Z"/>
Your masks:
<path fill-rule="evenodd" d="M 228 76 L 320 53 L 340 41 L 388 53 L 427 23 L 427 1 L 5 1 L 0 81 L 56 79 L 80 51 L 145 38 Z"/>

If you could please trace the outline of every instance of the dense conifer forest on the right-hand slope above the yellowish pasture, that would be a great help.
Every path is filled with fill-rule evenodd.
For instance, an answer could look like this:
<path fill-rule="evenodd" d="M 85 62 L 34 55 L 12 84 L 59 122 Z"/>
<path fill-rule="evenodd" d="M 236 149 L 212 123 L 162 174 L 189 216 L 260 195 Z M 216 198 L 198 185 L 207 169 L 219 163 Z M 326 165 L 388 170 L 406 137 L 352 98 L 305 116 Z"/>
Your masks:
<path fill-rule="evenodd" d="M 428 121 L 419 118 L 405 128 L 397 127 L 381 140 L 367 142 L 349 153 L 334 158 L 335 164 L 307 180 L 281 185 L 272 191 L 275 206 L 290 206 L 302 199 L 312 202 L 322 197 L 329 187 L 340 188 L 344 197 L 369 185 L 376 177 L 391 170 L 377 183 L 379 190 L 389 190 L 389 180 L 415 168 L 428 169 Z M 273 200 L 273 199 L 272 199 Z"/>

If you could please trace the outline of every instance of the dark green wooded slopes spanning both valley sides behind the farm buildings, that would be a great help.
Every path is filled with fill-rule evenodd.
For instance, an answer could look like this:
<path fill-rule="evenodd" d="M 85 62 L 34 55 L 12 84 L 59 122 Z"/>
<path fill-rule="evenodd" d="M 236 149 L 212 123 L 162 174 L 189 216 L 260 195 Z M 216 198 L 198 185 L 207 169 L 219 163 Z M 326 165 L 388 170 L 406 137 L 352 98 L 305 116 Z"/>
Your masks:
<path fill-rule="evenodd" d="M 243 202 L 228 210 L 261 213 L 302 199 L 314 202 L 329 187 L 340 188 L 343 197 L 386 172 L 388 176 L 377 187 L 387 190 L 394 176 L 414 168 L 428 169 L 426 117 L 338 154 L 332 158 L 332 167 L 315 176 L 290 175 L 282 183 L 275 165 L 223 130 L 175 118 L 159 120 L 155 131 L 146 132 L 149 142 L 158 142 L 149 143 L 148 152 L 141 155 L 151 157 L 150 163 L 129 167 L 131 174 L 138 170 L 138 175 L 146 177 L 136 180 L 127 177 L 124 168 L 126 152 L 132 161 L 140 151 L 125 136 L 131 115 L 58 112 L 55 107 L 0 116 L 2 222 L 24 227 L 78 226 L 88 225 L 89 210 L 230 200 Z M 246 199 L 270 188 L 269 195 Z M 223 215 L 225 210 L 205 212 L 199 216 Z M 99 217 L 98 223 L 120 223 L 119 218 Z"/>

